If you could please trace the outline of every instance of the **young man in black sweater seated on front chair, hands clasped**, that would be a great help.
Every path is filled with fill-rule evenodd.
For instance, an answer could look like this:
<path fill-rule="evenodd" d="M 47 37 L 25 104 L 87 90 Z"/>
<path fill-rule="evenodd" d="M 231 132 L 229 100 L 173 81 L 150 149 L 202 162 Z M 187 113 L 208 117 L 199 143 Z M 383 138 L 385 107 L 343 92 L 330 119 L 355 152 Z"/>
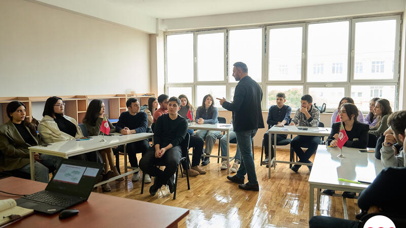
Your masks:
<path fill-rule="evenodd" d="M 171 97 L 168 101 L 168 114 L 164 114 L 156 121 L 154 129 L 154 146 L 140 161 L 143 172 L 154 176 L 154 184 L 149 188 L 149 193 L 155 196 L 162 185 L 168 185 L 169 191 L 175 191 L 174 174 L 178 169 L 182 155 L 181 143 L 187 133 L 187 121 L 178 115 L 181 101 L 177 97 Z M 157 162 L 164 164 L 162 171 L 157 168 Z"/>

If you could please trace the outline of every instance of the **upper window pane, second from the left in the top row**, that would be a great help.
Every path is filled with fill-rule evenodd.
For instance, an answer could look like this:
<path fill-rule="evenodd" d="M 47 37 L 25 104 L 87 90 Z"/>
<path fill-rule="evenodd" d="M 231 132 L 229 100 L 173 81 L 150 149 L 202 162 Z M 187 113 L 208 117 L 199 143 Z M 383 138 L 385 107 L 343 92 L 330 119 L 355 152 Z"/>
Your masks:
<path fill-rule="evenodd" d="M 168 83 L 193 82 L 193 34 L 166 36 L 166 75 Z"/>

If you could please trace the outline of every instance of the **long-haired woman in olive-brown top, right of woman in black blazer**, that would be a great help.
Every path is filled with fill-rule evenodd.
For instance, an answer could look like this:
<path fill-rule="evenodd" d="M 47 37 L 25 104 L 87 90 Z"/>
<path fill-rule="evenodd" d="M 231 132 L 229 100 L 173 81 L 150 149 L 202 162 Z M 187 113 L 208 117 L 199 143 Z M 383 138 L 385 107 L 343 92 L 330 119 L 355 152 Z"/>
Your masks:
<path fill-rule="evenodd" d="M 387 99 L 379 99 L 375 103 L 374 114 L 378 118 L 377 125 L 369 128 L 368 147 L 376 147 L 378 137 L 388 129 L 388 117 L 392 113 L 389 101 Z"/>

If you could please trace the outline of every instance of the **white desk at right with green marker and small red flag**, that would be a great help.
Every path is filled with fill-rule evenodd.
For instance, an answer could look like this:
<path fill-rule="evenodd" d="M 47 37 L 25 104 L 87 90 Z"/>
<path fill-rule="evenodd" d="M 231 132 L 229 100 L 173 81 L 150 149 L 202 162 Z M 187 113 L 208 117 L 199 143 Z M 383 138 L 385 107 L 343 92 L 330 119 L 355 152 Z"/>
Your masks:
<path fill-rule="evenodd" d="M 314 215 L 314 188 L 317 188 L 317 204 L 320 204 L 320 189 L 337 191 L 361 192 L 368 184 L 356 184 L 339 181 L 338 178 L 358 181 L 367 179 L 373 181 L 382 171 L 381 160 L 375 158 L 375 153 L 359 153 L 358 148 L 343 147 L 345 158 L 337 158 L 340 148 L 319 145 L 309 177 L 309 218 Z M 344 217 L 348 217 L 347 201 L 344 198 Z"/>

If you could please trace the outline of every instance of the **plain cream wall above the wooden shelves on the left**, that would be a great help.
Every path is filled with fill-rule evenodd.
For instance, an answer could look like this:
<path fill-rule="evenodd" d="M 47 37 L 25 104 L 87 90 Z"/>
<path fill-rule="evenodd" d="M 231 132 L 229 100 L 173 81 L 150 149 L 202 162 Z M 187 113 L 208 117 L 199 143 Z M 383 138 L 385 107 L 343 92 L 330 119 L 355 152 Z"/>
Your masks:
<path fill-rule="evenodd" d="M 0 97 L 150 92 L 149 34 L 0 1 Z"/>

